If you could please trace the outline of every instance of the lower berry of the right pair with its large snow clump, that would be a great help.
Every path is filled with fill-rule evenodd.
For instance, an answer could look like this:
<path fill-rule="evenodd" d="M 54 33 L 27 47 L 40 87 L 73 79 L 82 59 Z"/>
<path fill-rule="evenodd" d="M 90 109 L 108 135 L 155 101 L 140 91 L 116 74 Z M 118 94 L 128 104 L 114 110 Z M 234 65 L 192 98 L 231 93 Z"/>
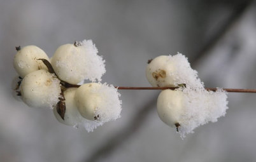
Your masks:
<path fill-rule="evenodd" d="M 185 137 L 193 133 L 194 128 L 225 116 L 227 103 L 227 93 L 220 88 L 216 92 L 204 88 L 178 88 L 161 91 L 157 112 L 164 123 L 176 126 L 181 137 Z"/>

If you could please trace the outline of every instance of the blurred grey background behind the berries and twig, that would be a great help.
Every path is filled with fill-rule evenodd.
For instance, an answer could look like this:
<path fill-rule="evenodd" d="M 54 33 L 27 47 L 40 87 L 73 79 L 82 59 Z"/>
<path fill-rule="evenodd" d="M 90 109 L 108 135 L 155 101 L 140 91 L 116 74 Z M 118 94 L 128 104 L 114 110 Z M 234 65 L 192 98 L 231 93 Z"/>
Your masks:
<path fill-rule="evenodd" d="M 15 46 L 51 57 L 83 39 L 115 86 L 150 86 L 147 60 L 179 51 L 206 87 L 256 88 L 255 1 L 1 0 L 0 161 L 256 161 L 253 93 L 229 93 L 226 116 L 183 140 L 157 116 L 158 90 L 120 90 L 122 118 L 91 133 L 13 98 Z"/>

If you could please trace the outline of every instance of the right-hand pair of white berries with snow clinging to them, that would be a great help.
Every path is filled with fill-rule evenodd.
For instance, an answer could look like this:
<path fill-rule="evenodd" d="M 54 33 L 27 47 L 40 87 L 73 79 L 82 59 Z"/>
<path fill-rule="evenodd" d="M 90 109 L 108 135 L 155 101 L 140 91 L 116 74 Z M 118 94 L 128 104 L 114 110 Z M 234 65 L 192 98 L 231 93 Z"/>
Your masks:
<path fill-rule="evenodd" d="M 221 88 L 216 92 L 205 90 L 197 71 L 181 53 L 149 60 L 146 78 L 152 86 L 177 87 L 160 92 L 157 112 L 164 123 L 176 127 L 181 137 L 197 126 L 217 121 L 228 108 L 227 93 Z"/>

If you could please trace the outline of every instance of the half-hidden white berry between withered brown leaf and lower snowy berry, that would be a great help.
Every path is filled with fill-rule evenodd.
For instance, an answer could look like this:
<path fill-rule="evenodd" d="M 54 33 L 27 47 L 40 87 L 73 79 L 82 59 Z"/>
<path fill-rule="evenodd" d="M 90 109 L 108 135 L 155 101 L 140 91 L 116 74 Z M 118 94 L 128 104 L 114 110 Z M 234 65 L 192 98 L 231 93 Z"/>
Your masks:
<path fill-rule="evenodd" d="M 75 103 L 75 93 L 77 88 L 68 88 L 64 91 L 65 103 L 66 103 L 66 112 L 64 120 L 60 117 L 57 112 L 56 107 L 53 109 L 53 114 L 60 123 L 69 126 L 78 126 L 81 122 L 81 115 L 78 112 L 78 108 Z"/>

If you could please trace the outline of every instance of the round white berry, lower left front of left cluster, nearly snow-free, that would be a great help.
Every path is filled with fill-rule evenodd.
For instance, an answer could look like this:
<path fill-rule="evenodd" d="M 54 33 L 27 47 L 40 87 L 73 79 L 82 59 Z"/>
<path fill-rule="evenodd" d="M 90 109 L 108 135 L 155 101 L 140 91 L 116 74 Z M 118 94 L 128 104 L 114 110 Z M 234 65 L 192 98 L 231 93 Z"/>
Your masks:
<path fill-rule="evenodd" d="M 59 102 L 60 81 L 43 69 L 31 72 L 20 84 L 22 100 L 30 107 L 51 107 Z"/>

